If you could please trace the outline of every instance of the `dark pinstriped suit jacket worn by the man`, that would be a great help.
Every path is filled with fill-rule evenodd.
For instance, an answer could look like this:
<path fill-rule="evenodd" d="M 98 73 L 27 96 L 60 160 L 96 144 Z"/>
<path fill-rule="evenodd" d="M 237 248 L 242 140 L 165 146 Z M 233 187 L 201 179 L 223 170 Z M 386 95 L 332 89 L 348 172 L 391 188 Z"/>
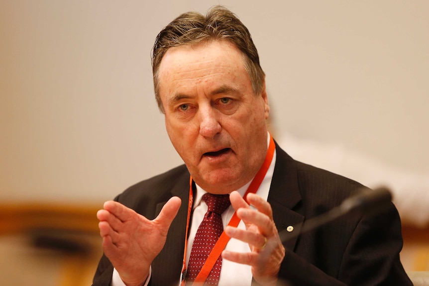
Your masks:
<path fill-rule="evenodd" d="M 339 205 L 362 186 L 352 180 L 295 161 L 276 145 L 277 159 L 268 201 L 274 222 L 282 231 L 299 231 L 305 220 Z M 140 182 L 115 200 L 154 219 L 172 196 L 182 205 L 167 241 L 152 263 L 151 286 L 177 285 L 182 269 L 189 197 L 189 173 L 179 166 Z M 399 260 L 401 222 L 390 204 L 377 216 L 351 213 L 285 243 L 280 283 L 296 286 L 407 286 L 412 285 Z M 93 286 L 108 286 L 113 267 L 102 257 Z"/>

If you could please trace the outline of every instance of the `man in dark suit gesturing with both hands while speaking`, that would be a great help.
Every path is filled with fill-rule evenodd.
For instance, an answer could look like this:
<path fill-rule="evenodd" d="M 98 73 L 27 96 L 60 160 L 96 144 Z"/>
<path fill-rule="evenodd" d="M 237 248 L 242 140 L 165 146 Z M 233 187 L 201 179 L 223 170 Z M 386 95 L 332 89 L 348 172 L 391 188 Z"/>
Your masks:
<path fill-rule="evenodd" d="M 393 204 L 376 217 L 354 213 L 294 236 L 361 185 L 294 161 L 274 143 L 258 53 L 233 13 L 216 6 L 206 17 L 182 14 L 159 33 L 152 67 L 158 106 L 185 165 L 98 212 L 105 256 L 94 285 L 412 285 L 399 260 Z M 201 236 L 211 239 L 200 232 L 211 207 L 206 193 L 229 194 L 231 206 L 219 214 L 218 243 L 226 245 L 196 262 L 197 244 L 209 244 Z M 290 239 L 282 243 L 284 229 Z"/>

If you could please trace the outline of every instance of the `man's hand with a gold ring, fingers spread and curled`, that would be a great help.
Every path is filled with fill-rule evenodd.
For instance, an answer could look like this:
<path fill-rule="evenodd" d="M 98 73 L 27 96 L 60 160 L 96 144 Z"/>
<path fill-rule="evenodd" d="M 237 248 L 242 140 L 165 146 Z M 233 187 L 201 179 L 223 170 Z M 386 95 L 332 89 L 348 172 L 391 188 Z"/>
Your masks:
<path fill-rule="evenodd" d="M 229 199 L 238 217 L 246 225 L 246 229 L 227 226 L 225 232 L 231 238 L 248 243 L 251 252 L 238 253 L 224 250 L 222 257 L 236 263 L 250 265 L 253 278 L 259 284 L 276 285 L 280 264 L 285 257 L 285 248 L 273 221 L 271 205 L 254 193 L 247 195 L 247 201 L 256 210 L 250 208 L 236 191 L 230 193 Z"/>

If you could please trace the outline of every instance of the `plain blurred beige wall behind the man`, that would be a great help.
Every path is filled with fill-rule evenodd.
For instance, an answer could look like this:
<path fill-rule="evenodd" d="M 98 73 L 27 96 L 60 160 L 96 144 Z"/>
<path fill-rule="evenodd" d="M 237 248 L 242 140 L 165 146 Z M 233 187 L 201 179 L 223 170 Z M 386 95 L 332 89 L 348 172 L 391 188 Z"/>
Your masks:
<path fill-rule="evenodd" d="M 217 3 L 252 33 L 277 135 L 429 172 L 429 1 L 0 0 L 2 199 L 101 202 L 181 164 L 150 50 Z"/>

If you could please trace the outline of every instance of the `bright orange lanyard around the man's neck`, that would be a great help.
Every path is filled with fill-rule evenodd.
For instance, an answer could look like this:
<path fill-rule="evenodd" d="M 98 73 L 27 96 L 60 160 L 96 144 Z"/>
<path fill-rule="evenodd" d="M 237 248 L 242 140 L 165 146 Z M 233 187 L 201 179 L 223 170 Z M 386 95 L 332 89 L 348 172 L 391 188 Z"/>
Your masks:
<path fill-rule="evenodd" d="M 271 165 L 271 162 L 273 160 L 274 156 L 274 150 L 276 149 L 276 146 L 274 144 L 273 137 L 270 134 L 270 144 L 268 146 L 268 152 L 267 156 L 265 157 L 264 163 L 262 163 L 261 169 L 259 169 L 258 173 L 256 174 L 255 178 L 253 178 L 252 182 L 250 183 L 249 187 L 247 188 L 246 193 L 243 195 L 244 200 L 246 200 L 246 196 L 249 192 L 255 193 L 258 191 L 259 187 L 261 186 L 262 181 L 265 178 L 265 175 L 267 174 L 268 168 Z M 185 276 L 186 276 L 186 249 L 188 245 L 188 230 L 189 230 L 189 221 L 191 218 L 191 212 L 192 212 L 192 204 L 194 200 L 194 195 L 192 192 L 192 177 L 189 181 L 189 201 L 188 201 L 188 221 L 186 224 L 186 235 L 185 235 L 185 253 L 183 254 L 183 267 L 182 267 L 182 283 L 181 286 L 185 285 Z M 246 200 L 247 202 L 247 200 Z M 230 219 L 228 225 L 237 227 L 237 225 L 240 223 L 240 219 L 238 218 L 237 214 L 234 212 L 232 215 L 232 218 Z M 198 274 L 197 278 L 195 279 L 195 282 L 193 285 L 202 285 L 206 279 L 209 277 L 210 272 L 212 272 L 212 269 L 214 267 L 214 264 L 217 261 L 217 258 L 222 253 L 223 249 L 225 249 L 226 244 L 228 243 L 230 237 L 225 234 L 225 231 L 222 232 L 219 239 L 217 240 L 216 244 L 213 247 L 212 252 L 210 253 L 209 257 L 207 258 L 205 264 L 203 265 L 203 268 L 201 269 L 200 273 Z"/>

